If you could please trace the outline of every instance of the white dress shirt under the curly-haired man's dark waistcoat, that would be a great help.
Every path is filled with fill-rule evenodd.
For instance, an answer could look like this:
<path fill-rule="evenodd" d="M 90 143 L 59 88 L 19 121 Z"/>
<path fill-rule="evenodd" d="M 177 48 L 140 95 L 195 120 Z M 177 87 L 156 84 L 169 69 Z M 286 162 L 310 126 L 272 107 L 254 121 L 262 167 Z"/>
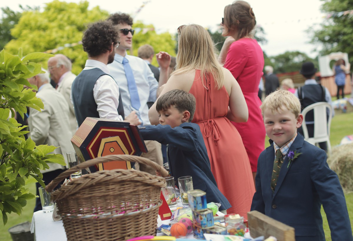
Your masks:
<path fill-rule="evenodd" d="M 109 69 L 104 63 L 88 59 L 86 60 L 84 70 L 98 68 L 107 75 L 100 76 L 93 87 L 93 98 L 97 104 L 97 111 L 100 118 L 122 121 L 118 113 L 119 105 L 119 86 L 114 79 L 109 76 Z"/>

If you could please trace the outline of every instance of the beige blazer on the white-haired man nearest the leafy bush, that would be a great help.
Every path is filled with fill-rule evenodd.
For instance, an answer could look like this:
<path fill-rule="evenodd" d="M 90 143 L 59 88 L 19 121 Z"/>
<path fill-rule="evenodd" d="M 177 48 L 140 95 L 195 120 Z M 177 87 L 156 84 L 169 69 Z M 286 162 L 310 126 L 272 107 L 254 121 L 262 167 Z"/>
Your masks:
<path fill-rule="evenodd" d="M 58 147 L 52 153 L 62 154 L 67 164 L 66 152 L 74 151 L 71 143 L 72 134 L 68 119 L 68 104 L 64 96 L 49 83 L 44 84 L 36 96 L 43 101 L 44 109 L 39 112 L 30 108 L 28 117 L 29 135 L 37 146 L 48 144 Z M 56 163 L 48 165 L 50 169 L 44 170 L 42 173 L 65 169 L 65 166 Z"/>

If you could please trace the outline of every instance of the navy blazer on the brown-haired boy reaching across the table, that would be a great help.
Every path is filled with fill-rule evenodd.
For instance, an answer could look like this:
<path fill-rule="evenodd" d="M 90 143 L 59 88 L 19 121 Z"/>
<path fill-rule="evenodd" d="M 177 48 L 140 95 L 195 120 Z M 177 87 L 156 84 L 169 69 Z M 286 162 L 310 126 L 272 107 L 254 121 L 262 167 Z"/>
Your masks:
<path fill-rule="evenodd" d="M 217 188 L 198 124 L 183 123 L 174 128 L 170 125 L 149 125 L 139 127 L 139 130 L 144 140 L 169 144 L 167 154 L 170 175 L 174 177 L 177 186 L 179 177 L 192 176 L 194 189 L 206 192 L 207 202 L 222 204 L 219 210 L 232 206 Z"/>

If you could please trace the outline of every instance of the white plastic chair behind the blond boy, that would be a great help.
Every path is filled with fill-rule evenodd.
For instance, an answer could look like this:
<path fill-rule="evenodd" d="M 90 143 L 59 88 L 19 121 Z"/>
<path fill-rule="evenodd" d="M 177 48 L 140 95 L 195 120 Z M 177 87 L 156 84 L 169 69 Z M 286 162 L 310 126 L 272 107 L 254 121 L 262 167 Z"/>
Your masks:
<path fill-rule="evenodd" d="M 329 118 L 327 119 L 327 108 L 329 109 Z M 309 137 L 308 130 L 305 123 L 305 115 L 314 110 L 314 136 Z M 304 140 L 316 145 L 319 142 L 327 142 L 328 154 L 331 154 L 331 144 L 330 144 L 330 126 L 332 119 L 332 107 L 328 102 L 317 102 L 315 104 L 309 105 L 304 108 L 301 112 L 303 114 L 303 134 Z"/>

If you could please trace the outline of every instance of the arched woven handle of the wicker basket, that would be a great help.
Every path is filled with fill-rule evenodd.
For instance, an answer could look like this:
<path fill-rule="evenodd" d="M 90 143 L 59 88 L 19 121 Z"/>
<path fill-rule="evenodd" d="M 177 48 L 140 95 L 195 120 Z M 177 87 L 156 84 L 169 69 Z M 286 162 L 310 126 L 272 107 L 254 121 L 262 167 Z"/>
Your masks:
<path fill-rule="evenodd" d="M 154 161 L 151 161 L 148 158 L 144 157 L 139 157 L 136 155 L 106 155 L 104 157 L 97 157 L 88 161 L 84 161 L 83 163 L 78 164 L 77 166 L 71 167 L 70 169 L 61 172 L 53 181 L 51 181 L 47 186 L 46 190 L 47 192 L 52 192 L 54 187 L 58 185 L 62 180 L 64 180 L 68 175 L 73 174 L 74 172 L 77 172 L 78 170 L 85 169 L 86 167 L 93 166 L 96 164 L 108 162 L 108 161 L 134 161 L 138 163 L 142 163 L 148 166 L 153 167 L 156 169 L 158 172 L 160 172 L 162 177 L 168 176 L 168 171 L 164 169 L 164 167 L 158 165 Z"/>

